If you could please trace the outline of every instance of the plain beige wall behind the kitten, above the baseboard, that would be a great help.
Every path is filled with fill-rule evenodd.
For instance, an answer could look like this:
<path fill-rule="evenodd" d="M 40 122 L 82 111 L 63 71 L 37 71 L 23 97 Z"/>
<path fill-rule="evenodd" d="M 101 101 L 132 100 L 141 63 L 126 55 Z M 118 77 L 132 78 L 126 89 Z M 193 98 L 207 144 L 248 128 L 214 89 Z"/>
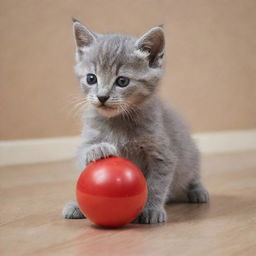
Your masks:
<path fill-rule="evenodd" d="M 80 132 L 71 16 L 101 33 L 164 23 L 162 96 L 193 131 L 256 128 L 255 0 L 1 0 L 1 140 Z"/>

